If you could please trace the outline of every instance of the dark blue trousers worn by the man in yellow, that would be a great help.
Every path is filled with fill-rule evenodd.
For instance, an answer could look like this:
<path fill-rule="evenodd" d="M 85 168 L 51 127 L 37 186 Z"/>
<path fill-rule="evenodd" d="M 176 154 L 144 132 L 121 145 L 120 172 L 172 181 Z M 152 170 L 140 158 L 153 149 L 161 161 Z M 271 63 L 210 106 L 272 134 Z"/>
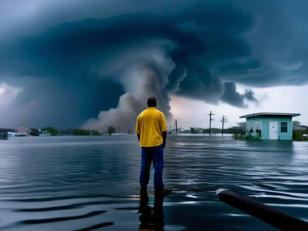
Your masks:
<path fill-rule="evenodd" d="M 141 171 L 140 186 L 147 187 L 150 180 L 150 169 L 153 161 L 154 167 L 154 188 L 164 187 L 163 167 L 164 167 L 164 147 L 163 145 L 155 147 L 141 147 Z"/>

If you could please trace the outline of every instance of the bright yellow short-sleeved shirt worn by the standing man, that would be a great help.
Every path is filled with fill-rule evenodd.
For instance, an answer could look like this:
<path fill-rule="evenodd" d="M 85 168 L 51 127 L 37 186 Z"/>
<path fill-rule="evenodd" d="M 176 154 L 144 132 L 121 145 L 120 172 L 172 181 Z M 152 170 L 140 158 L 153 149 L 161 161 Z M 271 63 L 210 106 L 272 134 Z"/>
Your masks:
<path fill-rule="evenodd" d="M 154 147 L 163 143 L 161 132 L 167 131 L 164 113 L 155 107 L 148 107 L 142 111 L 136 122 L 136 134 L 140 134 L 141 147 Z"/>

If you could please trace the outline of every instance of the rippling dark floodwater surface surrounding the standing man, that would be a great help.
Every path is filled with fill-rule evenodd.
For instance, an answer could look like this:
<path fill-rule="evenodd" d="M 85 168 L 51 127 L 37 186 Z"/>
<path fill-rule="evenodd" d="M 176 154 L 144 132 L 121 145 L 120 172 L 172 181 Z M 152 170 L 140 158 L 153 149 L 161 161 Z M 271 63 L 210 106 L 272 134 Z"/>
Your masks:
<path fill-rule="evenodd" d="M 307 220 L 307 147 L 169 135 L 164 183 L 173 192 L 162 213 L 151 172 L 145 221 L 164 224 L 164 230 L 276 230 L 220 202 L 218 188 Z M 13 137 L 1 141 L 0 157 L 0 230 L 138 230 L 135 135 Z"/>

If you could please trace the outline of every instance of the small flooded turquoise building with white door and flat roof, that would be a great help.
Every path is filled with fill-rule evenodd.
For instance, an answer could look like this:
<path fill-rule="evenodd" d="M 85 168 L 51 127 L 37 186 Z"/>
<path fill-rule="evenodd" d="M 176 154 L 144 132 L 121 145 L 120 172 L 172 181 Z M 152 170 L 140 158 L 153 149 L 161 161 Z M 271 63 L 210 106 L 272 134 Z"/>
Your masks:
<path fill-rule="evenodd" d="M 242 115 L 246 118 L 246 132 L 253 136 L 261 133 L 262 140 L 292 140 L 292 118 L 294 113 L 254 113 Z"/>

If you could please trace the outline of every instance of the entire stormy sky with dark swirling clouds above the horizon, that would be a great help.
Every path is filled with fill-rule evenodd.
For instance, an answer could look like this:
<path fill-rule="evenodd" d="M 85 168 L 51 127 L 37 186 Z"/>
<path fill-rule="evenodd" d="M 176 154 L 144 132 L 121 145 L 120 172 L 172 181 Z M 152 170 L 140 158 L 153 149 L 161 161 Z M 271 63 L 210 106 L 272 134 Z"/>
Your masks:
<path fill-rule="evenodd" d="M 256 112 L 308 125 L 306 0 L 3 0 L 0 126 L 133 129 Z"/>

